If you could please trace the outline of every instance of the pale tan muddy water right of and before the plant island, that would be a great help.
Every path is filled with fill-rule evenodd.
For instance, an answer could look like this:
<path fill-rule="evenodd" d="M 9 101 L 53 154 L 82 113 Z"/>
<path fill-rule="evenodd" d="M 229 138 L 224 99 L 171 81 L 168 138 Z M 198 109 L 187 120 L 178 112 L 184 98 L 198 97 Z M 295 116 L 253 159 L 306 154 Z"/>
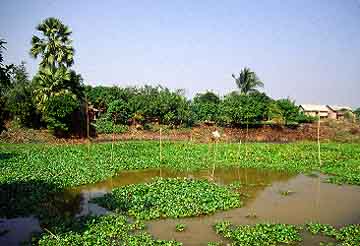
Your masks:
<path fill-rule="evenodd" d="M 205 245 L 204 242 L 221 242 L 212 228 L 220 220 L 234 224 L 317 221 L 341 226 L 360 223 L 360 187 L 323 183 L 322 179 L 324 177 L 298 175 L 289 180 L 273 180 L 270 186 L 253 192 L 255 198 L 246 201 L 242 208 L 206 217 L 156 220 L 148 224 L 148 231 L 157 238 L 175 239 L 184 245 Z M 285 196 L 282 191 L 292 193 Z M 187 230 L 175 232 L 178 223 L 186 224 Z M 304 245 L 319 245 L 316 244 L 319 237 L 306 235 L 304 240 Z"/>

